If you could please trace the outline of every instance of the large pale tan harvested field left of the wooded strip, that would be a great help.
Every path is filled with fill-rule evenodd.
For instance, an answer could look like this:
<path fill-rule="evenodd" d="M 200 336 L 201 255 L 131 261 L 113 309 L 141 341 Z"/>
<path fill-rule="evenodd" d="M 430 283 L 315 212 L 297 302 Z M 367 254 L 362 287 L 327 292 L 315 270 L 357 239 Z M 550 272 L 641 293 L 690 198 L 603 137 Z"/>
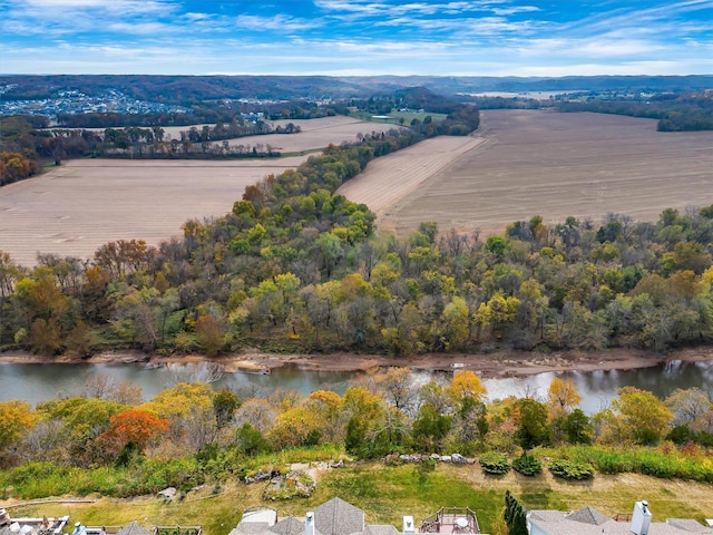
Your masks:
<path fill-rule="evenodd" d="M 0 250 L 91 257 L 114 240 L 156 245 L 189 218 L 224 215 L 245 187 L 305 157 L 273 160 L 76 159 L 0 189 Z"/>

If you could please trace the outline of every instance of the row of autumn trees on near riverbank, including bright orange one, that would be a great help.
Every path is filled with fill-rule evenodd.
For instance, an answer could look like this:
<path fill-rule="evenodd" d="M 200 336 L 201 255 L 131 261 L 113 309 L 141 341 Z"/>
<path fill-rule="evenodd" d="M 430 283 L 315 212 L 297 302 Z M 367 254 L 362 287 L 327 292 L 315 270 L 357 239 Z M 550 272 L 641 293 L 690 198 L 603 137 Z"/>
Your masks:
<path fill-rule="evenodd" d="M 193 370 L 201 374 L 199 368 Z M 693 478 L 713 480 L 704 461 L 706 448 L 713 447 L 713 402 L 697 388 L 660 400 L 624 387 L 609 408 L 592 417 L 577 408 L 582 397 L 572 380 L 556 378 L 540 399 L 488 401 L 486 396 L 470 370 L 418 382 L 409 369 L 391 368 L 362 374 L 343 395 L 177 382 L 150 400 L 141 399 L 131 383 L 97 374 L 76 395 L 37 407 L 0 402 L 0 467 L 7 470 L 0 473 L 0 488 L 32 480 L 27 477 L 31 470 L 43 473 L 39 479 L 71 467 L 128 468 L 123 476 L 134 477 L 134 487 L 124 481 L 109 495 L 145 494 L 159 485 L 191 488 L 208 477 L 219 481 L 245 475 L 251 458 L 328 446 L 356 459 L 460 453 L 486 465 L 484 459 L 511 457 L 516 469 L 530 476 L 539 470 L 528 473 L 517 459 L 533 465 L 544 455 L 565 460 L 573 447 L 593 457 L 626 447 L 639 451 L 643 463 L 646 456 L 670 464 L 687 458 L 700 470 Z M 182 469 L 152 488 L 141 468 L 156 463 L 178 463 Z M 613 469 L 602 459 L 599 467 Z M 99 490 L 96 486 L 85 494 Z"/>

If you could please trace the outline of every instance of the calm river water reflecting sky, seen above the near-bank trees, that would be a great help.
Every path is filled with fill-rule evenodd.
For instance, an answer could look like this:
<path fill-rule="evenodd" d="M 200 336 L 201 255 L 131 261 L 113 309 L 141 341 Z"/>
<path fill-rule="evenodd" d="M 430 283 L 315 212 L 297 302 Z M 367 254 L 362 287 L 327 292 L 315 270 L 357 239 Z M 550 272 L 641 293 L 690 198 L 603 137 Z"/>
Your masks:
<path fill-rule="evenodd" d="M 144 399 L 150 399 L 160 390 L 172 387 L 182 377 L 180 367 L 149 368 L 140 363 L 121 364 L 18 364 L 0 363 L 0 401 L 21 399 L 30 403 L 52 398 L 80 393 L 92 376 L 102 373 L 116 381 L 138 385 Z M 189 370 L 188 370 L 189 371 Z M 343 393 L 358 379 L 358 372 L 305 371 L 296 367 L 276 368 L 270 374 L 224 373 L 214 383 L 216 388 L 227 387 L 245 396 L 265 395 L 270 390 L 284 388 L 307 395 L 314 390 L 328 389 Z M 448 380 L 449 372 L 414 372 L 417 382 L 432 378 Z M 489 399 L 508 396 L 547 396 L 555 373 L 537 373 L 519 378 L 484 379 Z M 564 372 L 559 377 L 574 379 L 583 397 L 582 409 L 593 415 L 606 407 L 617 396 L 617 390 L 632 386 L 648 390 L 664 398 L 677 388 L 699 387 L 713 397 L 713 362 L 673 361 L 668 364 L 637 370 Z"/>

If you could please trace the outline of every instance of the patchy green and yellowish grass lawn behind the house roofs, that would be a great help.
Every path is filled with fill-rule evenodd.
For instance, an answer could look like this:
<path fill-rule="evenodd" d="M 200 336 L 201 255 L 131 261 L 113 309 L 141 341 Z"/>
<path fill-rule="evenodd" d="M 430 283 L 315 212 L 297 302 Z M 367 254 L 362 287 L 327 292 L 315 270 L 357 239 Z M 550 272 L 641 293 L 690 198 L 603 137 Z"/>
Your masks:
<path fill-rule="evenodd" d="M 241 518 L 243 509 L 267 505 L 280 517 L 304 514 L 316 505 L 339 496 L 367 512 L 370 524 L 401 527 L 403 515 L 417 523 L 441 506 L 468 506 L 475 509 L 484 533 L 502 532 L 500 519 L 506 489 L 528 508 L 573 510 L 592 505 L 606 515 L 631 513 L 634 502 L 647 499 L 654 522 L 668 517 L 703 521 L 713 512 L 713 485 L 656 479 L 637 474 L 598 475 L 592 481 L 568 483 L 549 473 L 527 478 L 514 471 L 502 477 L 482 474 L 478 465 L 440 465 L 423 474 L 416 465 L 388 467 L 370 463 L 322 473 L 315 494 L 309 499 L 265 503 L 263 485 L 224 485 L 218 494 L 212 486 L 192 490 L 183 502 L 164 504 L 155 497 L 134 499 L 100 498 L 94 504 L 46 504 L 10 510 L 14 516 L 66 515 L 72 522 L 90 525 L 126 525 L 136 519 L 145 527 L 154 525 L 202 525 L 206 535 L 225 535 Z M 3 505 L 3 504 L 0 504 Z"/>

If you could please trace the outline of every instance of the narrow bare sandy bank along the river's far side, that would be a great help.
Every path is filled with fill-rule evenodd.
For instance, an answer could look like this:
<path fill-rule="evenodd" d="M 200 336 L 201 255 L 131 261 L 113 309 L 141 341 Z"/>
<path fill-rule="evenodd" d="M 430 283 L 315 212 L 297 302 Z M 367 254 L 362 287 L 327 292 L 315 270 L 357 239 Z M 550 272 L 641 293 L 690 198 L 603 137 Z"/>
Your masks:
<path fill-rule="evenodd" d="M 557 351 L 549 354 L 524 351 L 498 351 L 487 354 L 420 354 L 413 357 L 384 357 L 378 354 L 329 353 L 329 354 L 275 354 L 258 350 L 207 359 L 201 354 L 158 356 L 139 351 L 107 351 L 89 359 L 66 357 L 38 357 L 23 351 L 0 353 L 0 362 L 13 363 L 121 363 L 145 362 L 163 366 L 167 363 L 217 362 L 226 372 L 258 371 L 268 373 L 283 366 L 296 366 L 314 371 L 368 371 L 379 368 L 406 366 L 416 370 L 468 369 L 485 378 L 520 377 L 543 372 L 631 370 L 647 368 L 664 361 L 710 361 L 713 348 L 695 348 L 672 351 L 657 356 L 647 351 L 609 350 L 605 352 Z"/>

